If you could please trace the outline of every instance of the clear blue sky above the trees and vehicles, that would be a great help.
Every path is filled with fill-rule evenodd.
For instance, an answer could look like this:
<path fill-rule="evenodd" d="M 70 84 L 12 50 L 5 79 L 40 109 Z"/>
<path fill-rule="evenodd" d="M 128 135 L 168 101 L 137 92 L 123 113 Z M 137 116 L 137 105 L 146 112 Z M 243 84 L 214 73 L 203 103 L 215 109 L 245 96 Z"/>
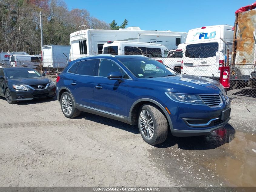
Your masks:
<path fill-rule="evenodd" d="M 255 0 L 65 0 L 68 9 L 85 8 L 91 16 L 121 25 L 124 19 L 129 26 L 141 30 L 171 30 L 188 32 L 209 25 L 234 25 L 234 12 Z"/>

